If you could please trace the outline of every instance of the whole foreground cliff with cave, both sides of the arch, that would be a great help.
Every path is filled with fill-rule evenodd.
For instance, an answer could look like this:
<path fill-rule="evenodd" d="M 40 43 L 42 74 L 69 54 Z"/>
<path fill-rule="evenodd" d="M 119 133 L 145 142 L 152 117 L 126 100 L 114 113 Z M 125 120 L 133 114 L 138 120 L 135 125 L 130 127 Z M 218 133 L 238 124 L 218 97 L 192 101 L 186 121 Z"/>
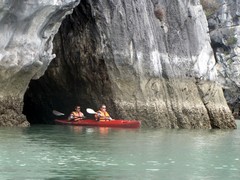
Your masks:
<path fill-rule="evenodd" d="M 1 125 L 28 125 L 27 90 L 31 123 L 105 103 L 113 117 L 150 127 L 236 128 L 198 0 L 82 0 L 49 65 L 77 3 L 0 5 Z"/>

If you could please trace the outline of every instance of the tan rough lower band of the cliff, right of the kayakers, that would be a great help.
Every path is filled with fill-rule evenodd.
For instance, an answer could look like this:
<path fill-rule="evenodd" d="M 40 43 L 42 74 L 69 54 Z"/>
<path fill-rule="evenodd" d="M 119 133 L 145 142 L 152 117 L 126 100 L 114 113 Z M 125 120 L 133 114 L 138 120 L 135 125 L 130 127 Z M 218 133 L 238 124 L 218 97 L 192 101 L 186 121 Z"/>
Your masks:
<path fill-rule="evenodd" d="M 150 127 L 235 128 L 219 85 L 194 80 L 151 79 L 137 101 L 115 101 L 122 114 Z M 149 97 L 149 98 L 148 98 Z M 127 116 L 127 117 L 128 117 Z"/>

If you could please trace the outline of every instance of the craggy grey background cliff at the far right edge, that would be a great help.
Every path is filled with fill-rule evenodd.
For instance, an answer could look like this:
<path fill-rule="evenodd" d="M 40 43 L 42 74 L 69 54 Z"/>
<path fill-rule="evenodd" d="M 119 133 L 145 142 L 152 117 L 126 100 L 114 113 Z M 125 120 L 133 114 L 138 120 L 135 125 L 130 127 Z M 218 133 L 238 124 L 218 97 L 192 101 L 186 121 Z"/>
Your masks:
<path fill-rule="evenodd" d="M 204 9 L 209 12 L 207 17 L 217 60 L 217 79 L 224 87 L 224 94 L 232 111 L 237 114 L 240 107 L 240 1 L 211 2 L 211 7 L 214 8 L 210 9 L 209 4 L 205 4 Z"/>

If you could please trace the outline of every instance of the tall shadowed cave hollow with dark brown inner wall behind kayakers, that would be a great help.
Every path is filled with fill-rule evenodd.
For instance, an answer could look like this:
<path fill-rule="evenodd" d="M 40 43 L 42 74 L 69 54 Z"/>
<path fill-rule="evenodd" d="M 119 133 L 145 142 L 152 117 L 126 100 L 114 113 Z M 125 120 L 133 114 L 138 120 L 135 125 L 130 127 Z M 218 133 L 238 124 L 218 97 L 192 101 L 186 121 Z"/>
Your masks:
<path fill-rule="evenodd" d="M 23 114 L 31 124 L 50 124 L 57 118 L 52 111 L 67 118 L 75 105 L 97 109 L 112 103 L 105 60 L 97 53 L 100 33 L 86 0 L 68 15 L 53 41 L 52 60 L 45 74 L 32 80 L 24 96 Z M 89 115 L 90 116 L 90 115 Z"/>

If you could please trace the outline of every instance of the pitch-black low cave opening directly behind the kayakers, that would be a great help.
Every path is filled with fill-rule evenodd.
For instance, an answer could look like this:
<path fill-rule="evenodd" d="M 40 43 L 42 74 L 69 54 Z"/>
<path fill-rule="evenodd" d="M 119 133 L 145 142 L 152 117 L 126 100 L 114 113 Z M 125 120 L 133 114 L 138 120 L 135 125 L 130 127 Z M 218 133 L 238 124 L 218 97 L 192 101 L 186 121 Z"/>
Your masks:
<path fill-rule="evenodd" d="M 50 85 L 51 84 L 51 85 Z M 56 89 L 52 89 L 52 88 Z M 86 108 L 96 108 L 76 97 L 74 92 L 59 89 L 45 77 L 32 80 L 24 96 L 23 114 L 26 115 L 30 124 L 53 124 L 54 119 L 66 119 L 76 105 L 80 105 L 86 117 L 92 118 L 85 111 Z M 53 110 L 62 112 L 64 115 L 56 116 Z"/>

